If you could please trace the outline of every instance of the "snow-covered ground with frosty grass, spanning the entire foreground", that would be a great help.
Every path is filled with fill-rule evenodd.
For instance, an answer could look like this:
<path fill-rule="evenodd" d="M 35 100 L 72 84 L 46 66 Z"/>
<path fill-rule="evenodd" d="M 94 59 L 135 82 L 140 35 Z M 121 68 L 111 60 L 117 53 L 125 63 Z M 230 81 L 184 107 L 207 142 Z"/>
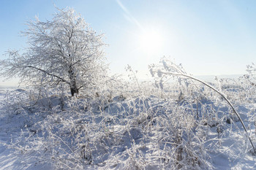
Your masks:
<path fill-rule="evenodd" d="M 26 96 L 0 89 L 0 169 L 256 169 L 241 123 L 219 99 Z M 256 105 L 235 106 L 256 144 Z"/>

